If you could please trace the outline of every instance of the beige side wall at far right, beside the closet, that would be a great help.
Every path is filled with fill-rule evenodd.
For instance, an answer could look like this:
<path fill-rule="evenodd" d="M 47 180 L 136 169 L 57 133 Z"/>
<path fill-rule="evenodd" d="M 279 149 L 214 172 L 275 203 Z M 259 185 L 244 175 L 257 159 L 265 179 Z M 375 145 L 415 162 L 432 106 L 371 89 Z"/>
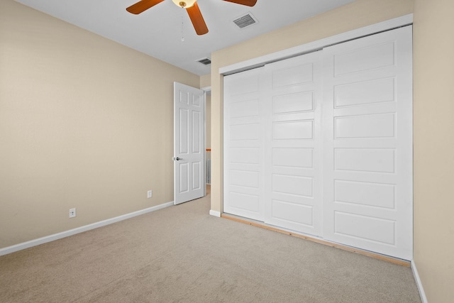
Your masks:
<path fill-rule="evenodd" d="M 414 5 L 414 260 L 428 302 L 454 300 L 454 1 Z"/>

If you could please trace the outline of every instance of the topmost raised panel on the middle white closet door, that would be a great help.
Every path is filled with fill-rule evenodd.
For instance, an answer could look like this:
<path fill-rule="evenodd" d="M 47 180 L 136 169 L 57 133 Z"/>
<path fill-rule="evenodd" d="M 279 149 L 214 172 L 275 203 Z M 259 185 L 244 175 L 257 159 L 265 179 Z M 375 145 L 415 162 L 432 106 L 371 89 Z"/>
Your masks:
<path fill-rule="evenodd" d="M 272 86 L 274 88 L 312 82 L 314 79 L 312 63 L 295 67 L 275 70 L 272 73 Z"/>

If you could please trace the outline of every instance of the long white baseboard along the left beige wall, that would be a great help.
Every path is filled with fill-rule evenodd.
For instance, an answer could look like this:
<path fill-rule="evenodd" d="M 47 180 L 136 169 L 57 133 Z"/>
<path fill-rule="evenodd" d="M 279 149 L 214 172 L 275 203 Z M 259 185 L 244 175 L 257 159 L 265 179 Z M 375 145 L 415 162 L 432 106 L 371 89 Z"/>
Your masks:
<path fill-rule="evenodd" d="M 113 223 L 116 223 L 118 221 L 123 221 L 123 220 L 126 220 L 126 219 L 130 219 L 130 218 L 133 218 L 134 216 L 140 216 L 141 214 L 147 214 L 147 213 L 152 212 L 152 211 L 157 211 L 158 209 L 163 209 L 165 207 L 172 206 L 173 204 L 174 204 L 173 201 L 172 202 L 167 202 L 167 203 L 160 204 L 160 205 L 157 205 L 157 206 L 149 207 L 148 209 L 142 209 L 140 211 L 134 211 L 134 212 L 129 213 L 129 214 L 123 214 L 122 216 L 116 216 L 115 218 L 106 219 L 106 220 L 99 221 L 99 222 L 96 222 L 96 223 L 93 223 L 93 224 L 89 224 L 89 225 L 73 228 L 73 229 L 70 229 L 69 231 L 62 231 L 61 233 L 54 233 L 53 235 L 45 236 L 43 238 L 37 238 L 35 240 L 31 240 L 31 241 L 27 241 L 27 242 L 23 242 L 23 243 L 18 243 L 18 244 L 13 245 L 13 246 L 0 248 L 0 255 L 7 255 L 9 253 L 14 253 L 14 252 L 16 252 L 18 250 L 31 248 L 33 246 L 38 246 L 40 244 L 44 244 L 44 243 L 55 241 L 55 240 L 58 240 L 58 239 L 61 239 L 61 238 L 69 237 L 69 236 L 75 235 L 76 233 L 83 233 L 84 231 L 89 231 L 89 230 L 92 230 L 94 228 L 99 228 L 101 226 L 106 226 L 106 225 L 109 225 L 109 224 L 113 224 Z"/>

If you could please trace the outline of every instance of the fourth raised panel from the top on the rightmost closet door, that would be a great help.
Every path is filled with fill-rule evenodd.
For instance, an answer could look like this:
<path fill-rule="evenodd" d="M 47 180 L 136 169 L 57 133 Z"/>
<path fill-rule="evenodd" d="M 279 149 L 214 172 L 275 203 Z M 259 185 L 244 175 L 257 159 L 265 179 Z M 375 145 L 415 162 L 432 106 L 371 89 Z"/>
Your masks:
<path fill-rule="evenodd" d="M 394 172 L 394 149 L 335 148 L 335 170 Z"/>

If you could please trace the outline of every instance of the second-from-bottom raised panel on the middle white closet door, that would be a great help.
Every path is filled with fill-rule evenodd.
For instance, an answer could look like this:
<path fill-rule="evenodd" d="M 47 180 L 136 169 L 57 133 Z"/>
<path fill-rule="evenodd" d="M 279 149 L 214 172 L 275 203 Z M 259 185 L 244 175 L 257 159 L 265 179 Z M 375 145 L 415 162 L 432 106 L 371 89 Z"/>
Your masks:
<path fill-rule="evenodd" d="M 272 192 L 313 197 L 313 178 L 273 174 Z"/>

